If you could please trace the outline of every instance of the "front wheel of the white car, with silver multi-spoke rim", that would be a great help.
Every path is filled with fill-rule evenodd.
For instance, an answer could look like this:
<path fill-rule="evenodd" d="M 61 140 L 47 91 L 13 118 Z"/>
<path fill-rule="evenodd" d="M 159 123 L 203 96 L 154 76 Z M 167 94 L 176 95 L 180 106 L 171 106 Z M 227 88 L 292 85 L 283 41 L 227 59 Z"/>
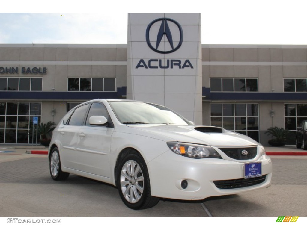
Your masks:
<path fill-rule="evenodd" d="M 130 151 L 119 162 L 117 187 L 124 204 L 131 209 L 155 206 L 159 198 L 150 194 L 150 181 L 146 163 L 137 151 Z"/>

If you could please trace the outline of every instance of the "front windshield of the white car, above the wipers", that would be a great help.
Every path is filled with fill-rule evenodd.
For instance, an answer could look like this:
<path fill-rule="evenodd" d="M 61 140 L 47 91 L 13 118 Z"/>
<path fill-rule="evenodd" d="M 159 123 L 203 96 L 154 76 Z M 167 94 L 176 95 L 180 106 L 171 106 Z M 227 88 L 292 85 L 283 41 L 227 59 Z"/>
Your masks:
<path fill-rule="evenodd" d="M 190 125 L 184 117 L 161 105 L 130 101 L 115 101 L 109 104 L 122 124 Z"/>

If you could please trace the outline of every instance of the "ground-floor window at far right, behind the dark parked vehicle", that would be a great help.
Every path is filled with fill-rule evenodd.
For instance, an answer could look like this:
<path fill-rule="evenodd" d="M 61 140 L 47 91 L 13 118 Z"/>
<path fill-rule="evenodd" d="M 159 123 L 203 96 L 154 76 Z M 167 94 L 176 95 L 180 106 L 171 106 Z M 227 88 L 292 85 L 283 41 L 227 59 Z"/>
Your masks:
<path fill-rule="evenodd" d="M 297 127 L 307 120 L 307 104 L 285 104 L 285 129 L 290 131 L 286 144 L 295 144 Z"/>

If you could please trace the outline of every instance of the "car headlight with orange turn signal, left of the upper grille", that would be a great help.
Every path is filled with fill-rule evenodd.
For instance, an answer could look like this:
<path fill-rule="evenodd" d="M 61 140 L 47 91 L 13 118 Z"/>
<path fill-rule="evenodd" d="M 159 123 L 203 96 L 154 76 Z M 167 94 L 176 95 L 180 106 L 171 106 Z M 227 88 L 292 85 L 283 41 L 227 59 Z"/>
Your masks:
<path fill-rule="evenodd" d="M 167 142 L 168 147 L 174 152 L 182 156 L 200 159 L 200 158 L 219 158 L 220 154 L 207 145 L 189 144 L 182 142 Z"/>

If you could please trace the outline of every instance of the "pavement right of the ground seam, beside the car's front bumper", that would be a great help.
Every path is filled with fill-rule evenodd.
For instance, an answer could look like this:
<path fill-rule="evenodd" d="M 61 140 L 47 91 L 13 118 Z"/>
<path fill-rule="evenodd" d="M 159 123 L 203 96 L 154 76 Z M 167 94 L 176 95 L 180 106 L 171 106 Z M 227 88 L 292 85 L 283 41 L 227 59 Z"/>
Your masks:
<path fill-rule="evenodd" d="M 214 217 L 307 217 L 307 157 L 272 157 L 272 185 L 237 195 L 212 197 L 204 205 Z"/>

